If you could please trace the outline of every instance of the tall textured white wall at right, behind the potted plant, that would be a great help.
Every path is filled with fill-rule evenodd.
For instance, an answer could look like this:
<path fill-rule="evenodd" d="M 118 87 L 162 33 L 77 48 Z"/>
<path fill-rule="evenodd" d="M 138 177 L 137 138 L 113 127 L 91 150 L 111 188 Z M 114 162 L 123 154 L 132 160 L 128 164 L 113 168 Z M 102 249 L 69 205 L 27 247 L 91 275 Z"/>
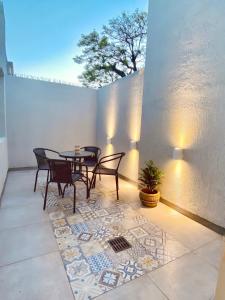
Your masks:
<path fill-rule="evenodd" d="M 225 1 L 150 1 L 149 12 L 141 165 L 165 171 L 164 198 L 225 226 Z"/>

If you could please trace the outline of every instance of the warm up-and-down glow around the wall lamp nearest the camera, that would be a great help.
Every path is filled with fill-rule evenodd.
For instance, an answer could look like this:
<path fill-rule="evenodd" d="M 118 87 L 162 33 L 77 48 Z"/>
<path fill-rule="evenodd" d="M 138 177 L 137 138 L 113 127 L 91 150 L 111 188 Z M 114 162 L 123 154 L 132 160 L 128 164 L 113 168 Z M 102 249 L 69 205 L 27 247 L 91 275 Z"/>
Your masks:
<path fill-rule="evenodd" d="M 184 43 L 180 46 L 185 47 L 182 51 L 187 51 L 188 45 Z M 182 157 L 179 149 L 185 149 L 187 154 L 189 149 L 194 151 L 196 142 L 200 142 L 204 132 L 202 124 L 205 116 L 202 99 L 206 95 L 202 86 L 205 85 L 206 78 L 199 57 L 193 56 L 190 59 L 190 56 L 186 56 L 182 62 L 177 61 L 177 65 L 173 68 L 174 73 L 171 82 L 168 83 L 170 90 L 167 91 L 167 137 L 172 148 L 178 150 L 175 151 L 177 152 L 175 159 L 169 160 L 164 166 L 166 179 L 162 190 L 165 191 L 165 198 L 169 195 L 171 199 L 168 200 L 187 209 L 189 206 L 194 206 L 195 199 L 187 195 L 190 195 L 192 187 L 196 186 L 196 178 L 199 178 L 200 174 L 188 161 L 189 157 L 186 154 Z"/>

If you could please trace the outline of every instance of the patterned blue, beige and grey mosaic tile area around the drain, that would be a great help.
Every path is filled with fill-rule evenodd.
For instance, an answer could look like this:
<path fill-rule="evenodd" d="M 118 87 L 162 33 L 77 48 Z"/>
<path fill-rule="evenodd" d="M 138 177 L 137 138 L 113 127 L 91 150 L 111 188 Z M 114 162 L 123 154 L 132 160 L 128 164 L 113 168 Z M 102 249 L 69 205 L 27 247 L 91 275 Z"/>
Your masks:
<path fill-rule="evenodd" d="M 40 188 L 43 193 L 43 184 Z M 52 184 L 48 212 L 76 300 L 93 299 L 189 251 L 139 214 L 138 201 L 117 201 L 115 193 L 101 185 L 87 200 L 81 183 L 73 214 L 72 195 L 68 188 L 65 198 L 59 198 Z M 131 248 L 116 253 L 108 241 L 119 236 Z"/>

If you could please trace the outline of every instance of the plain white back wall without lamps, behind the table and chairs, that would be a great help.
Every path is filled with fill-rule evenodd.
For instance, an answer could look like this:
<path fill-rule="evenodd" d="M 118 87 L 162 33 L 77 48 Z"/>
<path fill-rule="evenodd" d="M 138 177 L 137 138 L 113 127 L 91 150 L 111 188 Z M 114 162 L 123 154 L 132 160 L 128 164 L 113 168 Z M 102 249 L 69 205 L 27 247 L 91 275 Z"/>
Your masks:
<path fill-rule="evenodd" d="M 35 165 L 34 147 L 96 144 L 96 90 L 9 76 L 9 167 Z"/>

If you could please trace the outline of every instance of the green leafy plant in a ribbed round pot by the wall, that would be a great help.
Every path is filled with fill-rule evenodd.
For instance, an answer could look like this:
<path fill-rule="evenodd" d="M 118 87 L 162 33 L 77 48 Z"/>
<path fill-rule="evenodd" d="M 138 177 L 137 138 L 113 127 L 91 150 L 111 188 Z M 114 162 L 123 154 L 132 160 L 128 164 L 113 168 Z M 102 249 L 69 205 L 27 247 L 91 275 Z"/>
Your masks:
<path fill-rule="evenodd" d="M 146 162 L 145 167 L 141 169 L 139 181 L 141 185 L 139 197 L 144 206 L 155 207 L 160 199 L 160 192 L 157 186 L 161 183 L 163 176 L 161 170 L 154 165 L 152 160 Z"/>

